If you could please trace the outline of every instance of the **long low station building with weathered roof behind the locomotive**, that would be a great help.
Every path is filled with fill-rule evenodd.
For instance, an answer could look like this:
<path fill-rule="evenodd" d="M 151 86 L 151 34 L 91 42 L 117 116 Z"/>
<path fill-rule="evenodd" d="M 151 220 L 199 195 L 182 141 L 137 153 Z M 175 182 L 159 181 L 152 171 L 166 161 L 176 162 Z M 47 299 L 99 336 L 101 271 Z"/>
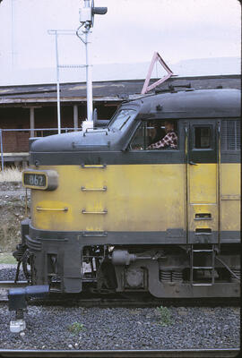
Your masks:
<path fill-rule="evenodd" d="M 158 79 L 152 79 L 150 84 Z M 94 81 L 93 107 L 98 120 L 110 119 L 124 101 L 141 97 L 144 80 Z M 155 91 L 240 89 L 239 74 L 171 77 Z M 80 130 L 86 119 L 86 83 L 60 85 L 62 132 Z M 29 138 L 57 133 L 56 84 L 0 87 L 0 129 L 4 163 L 28 162 Z"/>

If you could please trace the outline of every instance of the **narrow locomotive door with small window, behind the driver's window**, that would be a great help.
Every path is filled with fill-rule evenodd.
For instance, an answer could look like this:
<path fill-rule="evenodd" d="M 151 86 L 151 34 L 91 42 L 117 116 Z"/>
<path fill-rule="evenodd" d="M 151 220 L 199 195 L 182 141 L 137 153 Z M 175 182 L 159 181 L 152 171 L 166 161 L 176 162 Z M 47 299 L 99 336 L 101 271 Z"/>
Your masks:
<path fill-rule="evenodd" d="M 219 156 L 216 124 L 193 120 L 186 127 L 186 230 L 188 243 L 218 243 Z"/>

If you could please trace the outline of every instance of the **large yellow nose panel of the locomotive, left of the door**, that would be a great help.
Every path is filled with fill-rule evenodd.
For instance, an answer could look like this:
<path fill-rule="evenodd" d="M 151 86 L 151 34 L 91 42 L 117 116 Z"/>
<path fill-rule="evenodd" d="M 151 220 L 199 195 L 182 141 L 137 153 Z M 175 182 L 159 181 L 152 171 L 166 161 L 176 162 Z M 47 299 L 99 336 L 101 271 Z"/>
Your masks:
<path fill-rule="evenodd" d="M 182 164 L 110 165 L 105 169 L 52 166 L 52 170 L 59 176 L 56 191 L 32 191 L 32 226 L 37 229 L 185 230 Z"/>

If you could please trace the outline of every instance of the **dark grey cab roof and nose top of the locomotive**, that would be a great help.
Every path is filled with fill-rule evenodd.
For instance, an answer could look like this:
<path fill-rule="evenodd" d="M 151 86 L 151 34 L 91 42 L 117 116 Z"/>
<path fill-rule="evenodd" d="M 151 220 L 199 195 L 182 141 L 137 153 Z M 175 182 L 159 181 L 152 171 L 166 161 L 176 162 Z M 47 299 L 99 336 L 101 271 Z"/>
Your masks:
<path fill-rule="evenodd" d="M 125 102 L 120 109 L 134 109 L 134 119 L 124 131 L 103 128 L 89 132 L 71 132 L 32 139 L 30 161 L 33 153 L 74 151 L 122 150 L 130 141 L 137 127 L 137 120 L 185 119 L 185 118 L 233 118 L 240 117 L 239 90 L 189 90 L 163 93 Z"/>

